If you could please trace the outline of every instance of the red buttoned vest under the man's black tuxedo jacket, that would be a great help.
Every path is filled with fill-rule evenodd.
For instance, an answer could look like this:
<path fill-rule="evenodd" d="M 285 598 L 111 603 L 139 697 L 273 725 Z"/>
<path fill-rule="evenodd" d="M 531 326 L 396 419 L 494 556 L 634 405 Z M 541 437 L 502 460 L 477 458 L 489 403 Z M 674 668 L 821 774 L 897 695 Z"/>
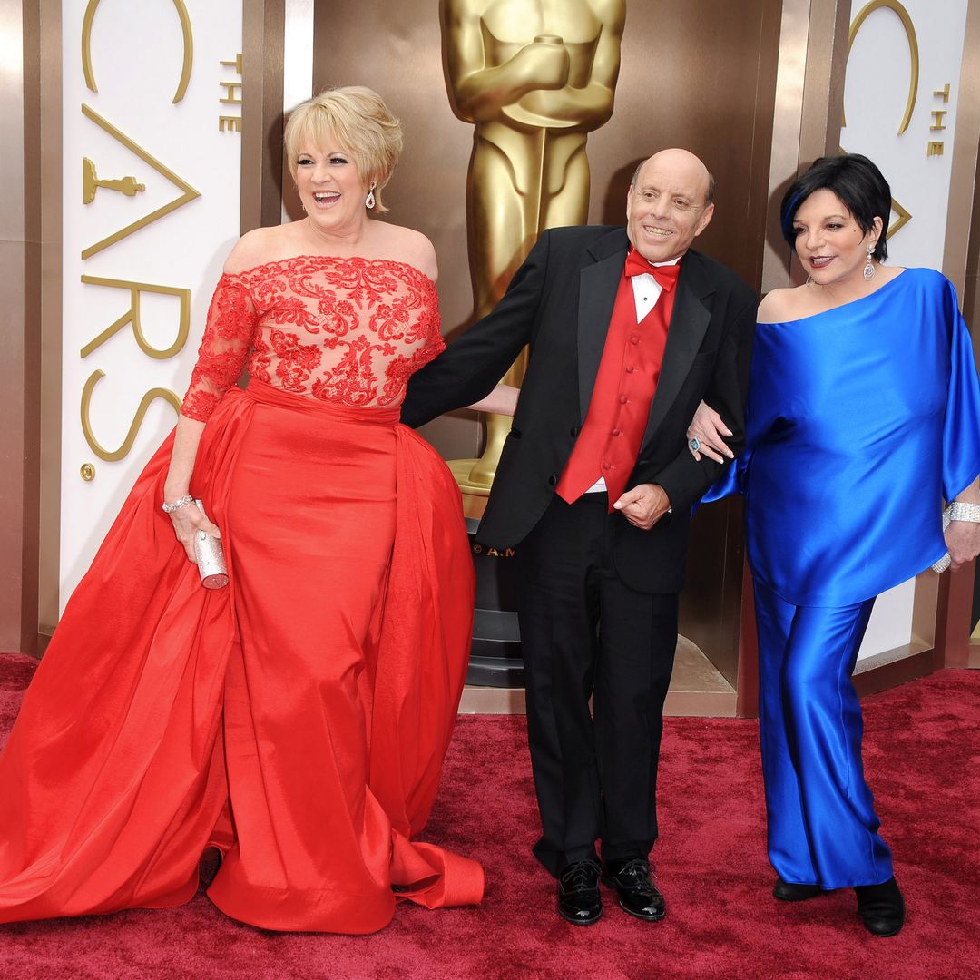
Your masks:
<path fill-rule="evenodd" d="M 664 289 L 654 309 L 637 323 L 633 286 L 625 272 L 620 277 L 589 411 L 556 491 L 567 503 L 578 500 L 600 476 L 606 480 L 610 511 L 626 489 L 661 375 L 674 293 Z"/>

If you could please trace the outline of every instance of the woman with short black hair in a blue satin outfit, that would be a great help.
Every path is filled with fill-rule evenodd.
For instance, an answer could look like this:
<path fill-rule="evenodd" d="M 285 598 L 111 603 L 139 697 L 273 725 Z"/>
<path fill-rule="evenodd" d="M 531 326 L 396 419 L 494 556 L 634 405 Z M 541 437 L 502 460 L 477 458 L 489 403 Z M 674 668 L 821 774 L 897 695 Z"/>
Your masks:
<path fill-rule="evenodd" d="M 953 285 L 882 265 L 892 195 L 856 154 L 789 188 L 782 230 L 809 272 L 759 309 L 746 497 L 760 648 L 760 737 L 777 899 L 854 888 L 869 932 L 905 903 L 861 765 L 851 673 L 875 597 L 980 552 L 980 384 Z M 730 456 L 703 407 L 695 455 Z M 943 532 L 943 502 L 955 502 Z"/>

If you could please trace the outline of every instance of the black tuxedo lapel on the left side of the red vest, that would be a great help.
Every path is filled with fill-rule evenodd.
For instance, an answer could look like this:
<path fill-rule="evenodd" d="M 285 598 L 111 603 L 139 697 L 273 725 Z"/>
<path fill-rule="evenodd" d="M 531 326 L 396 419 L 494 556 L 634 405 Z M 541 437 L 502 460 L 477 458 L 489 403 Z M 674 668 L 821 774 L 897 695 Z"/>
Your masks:
<path fill-rule="evenodd" d="M 589 250 L 597 262 L 579 273 L 578 405 L 581 422 L 585 421 L 589 411 L 628 247 L 625 231 L 603 238 L 595 249 Z"/>

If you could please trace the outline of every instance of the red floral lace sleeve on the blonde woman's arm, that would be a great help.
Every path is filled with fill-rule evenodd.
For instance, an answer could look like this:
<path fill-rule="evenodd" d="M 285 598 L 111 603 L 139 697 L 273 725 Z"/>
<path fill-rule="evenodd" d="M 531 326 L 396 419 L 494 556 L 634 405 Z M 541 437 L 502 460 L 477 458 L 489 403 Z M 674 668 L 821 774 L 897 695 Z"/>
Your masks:
<path fill-rule="evenodd" d="M 241 376 L 248 361 L 259 313 L 245 283 L 222 275 L 208 310 L 208 322 L 190 376 L 181 413 L 206 422 L 221 395 Z"/>

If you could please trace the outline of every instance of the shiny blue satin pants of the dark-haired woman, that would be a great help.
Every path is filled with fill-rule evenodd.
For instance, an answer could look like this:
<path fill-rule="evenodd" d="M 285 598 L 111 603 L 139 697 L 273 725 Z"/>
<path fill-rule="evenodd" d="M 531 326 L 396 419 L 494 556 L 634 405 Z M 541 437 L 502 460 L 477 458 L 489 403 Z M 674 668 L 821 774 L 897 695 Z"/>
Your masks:
<path fill-rule="evenodd" d="M 874 599 L 793 606 L 754 584 L 769 860 L 783 881 L 823 889 L 888 881 L 851 681 Z"/>

